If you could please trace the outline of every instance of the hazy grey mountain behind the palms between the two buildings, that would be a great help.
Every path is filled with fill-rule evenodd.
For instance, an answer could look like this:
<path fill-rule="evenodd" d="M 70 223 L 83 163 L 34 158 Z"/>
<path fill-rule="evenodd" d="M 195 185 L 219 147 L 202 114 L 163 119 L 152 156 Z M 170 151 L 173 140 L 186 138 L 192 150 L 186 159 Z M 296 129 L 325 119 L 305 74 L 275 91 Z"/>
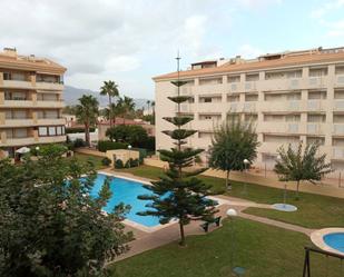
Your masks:
<path fill-rule="evenodd" d="M 92 91 L 90 89 L 79 89 L 79 88 L 75 88 L 71 86 L 65 86 L 63 99 L 65 99 L 66 106 L 77 105 L 78 99 L 82 95 L 95 96 L 98 99 L 100 107 L 106 107 L 108 105 L 108 98 L 105 96 L 100 96 L 98 91 Z M 144 99 L 144 98 L 134 99 L 135 108 L 137 109 L 141 109 L 144 107 L 147 108 L 147 100 L 151 101 L 151 99 Z"/>

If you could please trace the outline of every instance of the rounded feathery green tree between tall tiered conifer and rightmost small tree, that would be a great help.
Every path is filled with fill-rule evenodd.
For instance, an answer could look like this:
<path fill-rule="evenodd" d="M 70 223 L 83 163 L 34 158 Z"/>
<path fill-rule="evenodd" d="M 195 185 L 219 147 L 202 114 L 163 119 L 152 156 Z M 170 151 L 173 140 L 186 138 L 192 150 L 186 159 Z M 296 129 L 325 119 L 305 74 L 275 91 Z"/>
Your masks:
<path fill-rule="evenodd" d="M 242 121 L 239 117 L 228 115 L 228 119 L 215 128 L 209 166 L 226 171 L 226 187 L 229 184 L 232 170 L 244 170 L 244 160 L 250 164 L 257 157 L 259 142 L 252 121 Z"/>

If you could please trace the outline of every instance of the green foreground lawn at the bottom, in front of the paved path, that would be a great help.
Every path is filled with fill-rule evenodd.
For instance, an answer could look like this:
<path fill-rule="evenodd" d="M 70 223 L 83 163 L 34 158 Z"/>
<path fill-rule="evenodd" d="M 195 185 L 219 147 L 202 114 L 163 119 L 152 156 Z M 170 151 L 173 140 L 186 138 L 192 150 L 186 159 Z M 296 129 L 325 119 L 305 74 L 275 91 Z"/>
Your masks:
<path fill-rule="evenodd" d="M 122 261 L 110 269 L 117 277 L 222 277 L 230 273 L 230 257 L 235 249 L 234 265 L 246 268 L 245 277 L 302 276 L 304 246 L 309 238 L 303 234 L 279 229 L 245 219 L 236 219 L 235 238 L 232 240 L 232 222 L 205 236 L 187 238 L 187 248 L 177 243 L 146 251 Z M 234 248 L 235 247 L 235 248 Z M 344 276 L 338 260 L 311 256 L 312 276 Z"/>

